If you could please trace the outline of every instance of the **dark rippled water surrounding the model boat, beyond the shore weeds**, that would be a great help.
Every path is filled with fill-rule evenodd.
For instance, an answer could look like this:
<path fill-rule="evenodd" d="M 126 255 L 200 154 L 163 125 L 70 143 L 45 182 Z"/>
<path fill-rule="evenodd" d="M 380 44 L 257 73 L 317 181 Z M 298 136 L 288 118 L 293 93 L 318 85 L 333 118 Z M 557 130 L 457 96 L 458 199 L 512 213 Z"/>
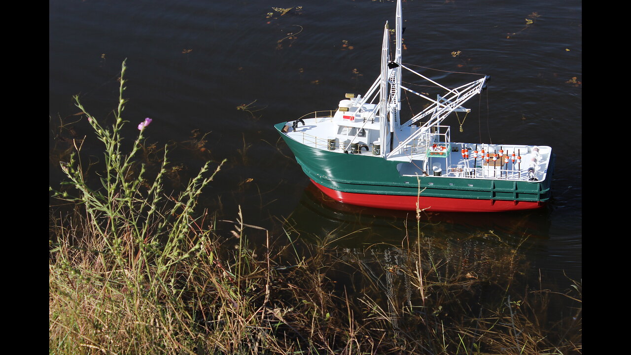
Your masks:
<path fill-rule="evenodd" d="M 228 159 L 204 191 L 209 209 L 233 219 L 240 206 L 245 223 L 275 231 L 277 238 L 285 236 L 281 227 L 311 237 L 363 228 L 339 243 L 401 243 L 405 214 L 323 199 L 273 128 L 334 109 L 344 93 L 369 88 L 379 74 L 382 29 L 386 20 L 394 21 L 394 2 L 53 0 L 49 5 L 51 127 L 79 111 L 72 95 L 80 95 L 97 117 L 113 109 L 116 79 L 127 58 L 129 136 L 151 117 L 148 141 L 177 143 L 171 160 L 184 164 L 183 176 L 206 159 Z M 281 15 L 273 7 L 292 9 Z M 524 253 L 533 268 L 561 283 L 567 283 L 563 273 L 581 279 L 581 16 L 580 1 L 403 3 L 404 63 L 492 77 L 488 95 L 469 101 L 472 112 L 463 133 L 455 119 L 445 121 L 454 128 L 452 140 L 550 145 L 557 154 L 550 208 L 430 215 L 424 220 L 440 227 L 425 227 L 425 236 L 465 238 L 488 231 L 505 240 L 530 236 Z M 461 54 L 453 57 L 454 51 Z M 451 80 L 447 72 L 435 73 L 439 81 Z M 88 134 L 85 123 L 74 129 L 77 136 Z M 208 133 L 204 151 L 191 143 L 196 129 Z M 51 163 L 51 184 L 59 179 Z"/>

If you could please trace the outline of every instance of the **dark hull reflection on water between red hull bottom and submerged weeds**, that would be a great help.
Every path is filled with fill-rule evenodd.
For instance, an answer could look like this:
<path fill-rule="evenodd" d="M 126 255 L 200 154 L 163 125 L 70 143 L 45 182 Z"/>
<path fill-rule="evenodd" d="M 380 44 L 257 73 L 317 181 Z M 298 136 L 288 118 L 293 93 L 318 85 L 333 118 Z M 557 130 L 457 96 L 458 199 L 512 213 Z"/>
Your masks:
<path fill-rule="evenodd" d="M 358 207 L 333 200 L 309 184 L 298 207 L 288 218 L 301 238 L 338 239 L 335 244 L 401 243 L 406 230 L 416 239 L 416 212 Z M 547 239 L 550 219 L 546 210 L 498 214 L 420 212 L 420 232 L 425 237 L 472 238 L 492 231 L 514 241 Z M 504 240 L 507 242 L 507 240 Z"/>

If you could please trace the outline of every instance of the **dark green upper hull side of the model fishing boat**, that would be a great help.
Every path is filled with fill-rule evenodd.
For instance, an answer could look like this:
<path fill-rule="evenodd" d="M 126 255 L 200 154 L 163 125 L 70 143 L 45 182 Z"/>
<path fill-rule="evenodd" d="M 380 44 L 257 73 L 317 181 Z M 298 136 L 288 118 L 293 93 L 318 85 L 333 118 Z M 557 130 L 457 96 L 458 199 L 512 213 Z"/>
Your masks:
<path fill-rule="evenodd" d="M 350 194 L 417 196 L 464 200 L 534 202 L 543 205 L 550 199 L 553 161 L 543 181 L 507 181 L 481 178 L 401 176 L 398 161 L 370 153 L 341 154 L 308 147 L 293 140 L 276 124 L 302 170 L 324 188 Z"/>

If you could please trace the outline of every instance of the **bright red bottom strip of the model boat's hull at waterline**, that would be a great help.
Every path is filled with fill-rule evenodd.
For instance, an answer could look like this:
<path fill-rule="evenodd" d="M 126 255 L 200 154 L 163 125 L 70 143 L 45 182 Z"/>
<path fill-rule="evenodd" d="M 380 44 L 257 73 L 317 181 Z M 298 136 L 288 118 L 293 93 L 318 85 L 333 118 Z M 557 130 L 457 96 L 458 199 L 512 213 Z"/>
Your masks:
<path fill-rule="evenodd" d="M 416 202 L 421 210 L 432 212 L 505 212 L 533 210 L 545 206 L 545 202 L 474 200 L 471 198 L 447 198 L 431 196 L 374 195 L 369 193 L 350 193 L 329 189 L 311 180 L 330 198 L 350 205 L 389 210 L 416 210 Z"/>

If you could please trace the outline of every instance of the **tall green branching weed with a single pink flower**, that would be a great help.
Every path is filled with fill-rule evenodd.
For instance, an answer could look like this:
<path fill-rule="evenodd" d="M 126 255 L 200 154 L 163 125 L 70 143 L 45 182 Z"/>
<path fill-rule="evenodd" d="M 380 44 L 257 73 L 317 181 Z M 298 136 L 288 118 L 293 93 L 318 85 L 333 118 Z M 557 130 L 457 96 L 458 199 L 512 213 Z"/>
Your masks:
<path fill-rule="evenodd" d="M 139 159 L 151 118 L 138 124 L 138 136 L 131 151 L 124 152 L 123 135 L 128 123 L 122 116 L 127 103 L 125 71 L 123 62 L 118 105 L 111 126 L 103 125 L 88 113 L 78 96 L 74 97 L 76 106 L 88 117 L 96 137 L 103 143 L 102 171 L 98 172 L 100 178 L 95 183 L 81 164 L 82 145 L 75 147 L 69 162 L 60 163 L 68 178 L 63 184 L 71 187 L 70 192 L 56 191 L 55 196 L 85 208 L 93 238 L 102 239 L 103 250 L 97 252 L 98 260 L 94 262 L 105 267 L 108 278 L 124 284 L 127 290 L 138 291 L 143 285 L 159 290 L 154 292 L 155 297 L 160 294 L 160 297 L 177 298 L 177 264 L 200 253 L 211 253 L 201 248 L 211 231 L 197 227 L 196 207 L 199 194 L 223 162 L 212 173 L 209 173 L 211 163 L 206 162 L 177 195 L 165 191 L 163 178 L 169 164 L 166 145 L 157 174 L 149 176 Z M 57 251 L 59 248 L 53 248 L 51 255 L 56 255 Z M 57 262 L 69 263 L 62 260 L 63 253 L 57 254 Z M 139 304 L 138 295 L 139 292 L 130 293 L 128 301 Z"/>

